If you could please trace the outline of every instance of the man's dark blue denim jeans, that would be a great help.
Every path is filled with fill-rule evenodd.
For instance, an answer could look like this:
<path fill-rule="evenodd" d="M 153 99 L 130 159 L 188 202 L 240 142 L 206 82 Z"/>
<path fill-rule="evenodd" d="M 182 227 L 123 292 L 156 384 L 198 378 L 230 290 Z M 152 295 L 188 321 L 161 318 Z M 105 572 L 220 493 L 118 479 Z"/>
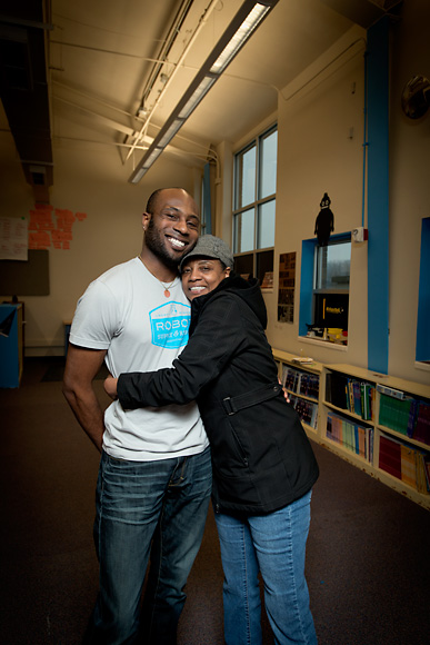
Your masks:
<path fill-rule="evenodd" d="M 100 592 L 90 643 L 131 645 L 140 634 L 146 643 L 176 644 L 183 587 L 203 536 L 211 482 L 209 448 L 190 457 L 144 463 L 102 454 L 94 523 Z"/>

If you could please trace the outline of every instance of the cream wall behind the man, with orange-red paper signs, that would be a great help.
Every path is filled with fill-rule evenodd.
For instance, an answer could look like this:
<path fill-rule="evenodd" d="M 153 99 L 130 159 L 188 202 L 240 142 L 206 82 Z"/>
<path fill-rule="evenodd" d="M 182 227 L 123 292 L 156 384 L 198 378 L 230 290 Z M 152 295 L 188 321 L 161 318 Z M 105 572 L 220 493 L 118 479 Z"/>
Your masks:
<path fill-rule="evenodd" d="M 57 145 L 53 156 L 51 206 L 83 211 L 87 219 L 74 222 L 70 250 L 49 250 L 50 295 L 18 294 L 26 302 L 26 356 L 63 354 L 63 320 L 72 318 L 88 284 L 140 252 L 141 215 L 149 195 L 163 186 L 182 186 L 193 194 L 196 183 L 194 169 L 172 162 L 169 156 L 158 160 L 138 186 L 127 181 L 129 168 L 119 173 L 121 163 L 113 147 Z M 2 212 L 28 216 L 34 208 L 31 189 L 18 163 L 9 173 Z"/>

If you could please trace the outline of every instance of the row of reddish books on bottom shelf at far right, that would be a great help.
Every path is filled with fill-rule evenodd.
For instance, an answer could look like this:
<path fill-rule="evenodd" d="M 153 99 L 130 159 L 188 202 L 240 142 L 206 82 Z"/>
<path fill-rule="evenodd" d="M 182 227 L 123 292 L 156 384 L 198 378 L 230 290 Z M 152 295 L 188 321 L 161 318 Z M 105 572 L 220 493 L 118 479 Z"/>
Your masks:
<path fill-rule="evenodd" d="M 429 493 L 429 455 L 387 435 L 379 441 L 379 468 L 419 493 Z"/>

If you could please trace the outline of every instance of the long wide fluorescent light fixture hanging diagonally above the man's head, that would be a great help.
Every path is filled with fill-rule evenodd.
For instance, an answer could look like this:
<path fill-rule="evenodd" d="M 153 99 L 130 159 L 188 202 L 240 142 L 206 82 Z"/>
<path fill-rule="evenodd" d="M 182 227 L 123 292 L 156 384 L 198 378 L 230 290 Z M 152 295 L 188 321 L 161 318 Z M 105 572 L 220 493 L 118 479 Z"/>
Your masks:
<path fill-rule="evenodd" d="M 279 0 L 244 0 L 129 178 L 138 183 Z"/>

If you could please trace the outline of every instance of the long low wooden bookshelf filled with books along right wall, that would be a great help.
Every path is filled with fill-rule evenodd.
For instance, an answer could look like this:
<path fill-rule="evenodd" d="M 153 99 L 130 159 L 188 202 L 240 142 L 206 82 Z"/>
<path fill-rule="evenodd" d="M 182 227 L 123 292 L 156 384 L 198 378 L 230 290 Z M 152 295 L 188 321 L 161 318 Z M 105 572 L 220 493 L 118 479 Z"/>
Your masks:
<path fill-rule="evenodd" d="M 279 349 L 273 358 L 311 439 L 430 510 L 430 386 L 352 365 L 298 364 Z M 300 387 L 309 376 L 317 396 Z M 300 405 L 316 406 L 313 421 Z"/>

